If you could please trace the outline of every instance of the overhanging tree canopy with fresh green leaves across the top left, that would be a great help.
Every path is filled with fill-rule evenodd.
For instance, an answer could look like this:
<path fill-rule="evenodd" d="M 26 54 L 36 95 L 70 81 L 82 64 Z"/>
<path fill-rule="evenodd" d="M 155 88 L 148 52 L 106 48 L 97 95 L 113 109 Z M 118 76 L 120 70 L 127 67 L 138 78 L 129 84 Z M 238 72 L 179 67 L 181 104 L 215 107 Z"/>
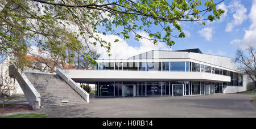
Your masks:
<path fill-rule="evenodd" d="M 223 1 L 223 0 L 222 0 Z M 220 1 L 220 2 L 222 2 Z M 101 35 L 111 33 L 123 38 L 135 34 L 135 40 L 147 38 L 138 31 L 148 33 L 153 44 L 185 38 L 180 22 L 204 24 L 205 20 L 220 19 L 224 10 L 216 8 L 213 0 L 2 0 L 0 1 L 0 53 L 14 53 L 37 45 L 50 51 L 63 61 L 69 59 L 67 49 L 82 52 L 90 62 L 92 45 L 100 44 L 107 52 L 111 42 Z M 104 27 L 104 31 L 98 31 Z M 161 28 L 155 30 L 154 27 Z M 117 31 L 116 28 L 122 28 Z M 118 42 L 118 40 L 115 40 Z M 72 56 L 72 55 L 70 55 Z"/>

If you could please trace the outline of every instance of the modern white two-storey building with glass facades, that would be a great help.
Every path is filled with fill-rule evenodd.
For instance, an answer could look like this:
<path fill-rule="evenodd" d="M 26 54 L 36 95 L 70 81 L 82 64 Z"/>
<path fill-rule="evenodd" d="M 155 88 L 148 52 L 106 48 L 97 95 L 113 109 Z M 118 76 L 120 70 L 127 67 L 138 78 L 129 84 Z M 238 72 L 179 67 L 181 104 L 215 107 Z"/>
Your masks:
<path fill-rule="evenodd" d="M 199 49 L 152 50 L 128 59 L 98 59 L 96 70 L 64 70 L 77 83 L 96 85 L 96 97 L 193 96 L 246 91 L 229 57 Z"/>

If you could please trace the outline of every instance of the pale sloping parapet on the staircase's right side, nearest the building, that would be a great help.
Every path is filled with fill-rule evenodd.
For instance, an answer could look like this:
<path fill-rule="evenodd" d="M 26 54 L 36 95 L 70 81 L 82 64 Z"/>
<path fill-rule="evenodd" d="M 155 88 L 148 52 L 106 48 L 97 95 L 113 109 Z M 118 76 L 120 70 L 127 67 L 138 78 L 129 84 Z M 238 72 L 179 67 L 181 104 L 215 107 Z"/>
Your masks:
<path fill-rule="evenodd" d="M 84 91 L 75 81 L 69 78 L 62 70 L 57 68 L 56 74 L 59 75 L 68 85 L 70 85 L 77 93 L 85 99 L 86 103 L 89 103 L 90 94 Z"/>

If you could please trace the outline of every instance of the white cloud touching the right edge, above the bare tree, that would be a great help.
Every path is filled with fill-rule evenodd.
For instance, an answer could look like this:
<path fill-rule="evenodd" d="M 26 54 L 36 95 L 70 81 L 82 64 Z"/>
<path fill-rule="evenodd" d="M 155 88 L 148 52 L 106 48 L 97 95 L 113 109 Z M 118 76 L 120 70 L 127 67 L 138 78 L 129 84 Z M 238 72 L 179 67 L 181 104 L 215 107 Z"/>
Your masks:
<path fill-rule="evenodd" d="M 248 45 L 256 48 L 256 0 L 253 1 L 251 6 L 249 18 L 251 20 L 251 25 L 249 30 L 245 30 L 243 39 L 232 40 L 230 44 L 238 45 L 241 49 L 246 49 Z"/>

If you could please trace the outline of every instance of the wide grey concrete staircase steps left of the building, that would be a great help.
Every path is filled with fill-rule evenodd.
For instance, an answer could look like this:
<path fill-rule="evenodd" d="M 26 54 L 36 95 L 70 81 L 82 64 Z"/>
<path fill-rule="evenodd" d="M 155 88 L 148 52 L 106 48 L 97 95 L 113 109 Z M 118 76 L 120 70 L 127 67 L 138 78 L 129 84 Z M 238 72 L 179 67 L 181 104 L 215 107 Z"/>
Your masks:
<path fill-rule="evenodd" d="M 86 104 L 84 98 L 65 83 L 59 75 L 30 72 L 25 72 L 25 74 L 41 95 L 41 108 Z M 61 101 L 68 102 L 63 103 Z"/>

